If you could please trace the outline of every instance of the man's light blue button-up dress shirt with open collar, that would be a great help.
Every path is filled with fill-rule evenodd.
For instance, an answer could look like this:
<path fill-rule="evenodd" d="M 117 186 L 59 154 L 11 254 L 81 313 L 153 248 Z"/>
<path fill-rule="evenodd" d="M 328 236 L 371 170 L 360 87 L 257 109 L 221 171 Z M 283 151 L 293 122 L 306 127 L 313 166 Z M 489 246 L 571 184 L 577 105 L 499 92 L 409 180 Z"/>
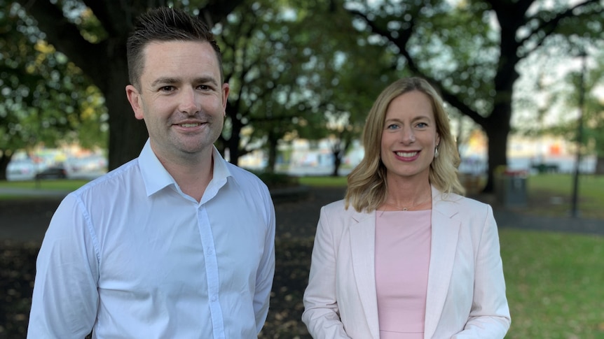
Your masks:
<path fill-rule="evenodd" d="M 275 272 L 266 185 L 214 148 L 200 203 L 149 141 L 69 194 L 36 263 L 28 338 L 256 338 Z"/>

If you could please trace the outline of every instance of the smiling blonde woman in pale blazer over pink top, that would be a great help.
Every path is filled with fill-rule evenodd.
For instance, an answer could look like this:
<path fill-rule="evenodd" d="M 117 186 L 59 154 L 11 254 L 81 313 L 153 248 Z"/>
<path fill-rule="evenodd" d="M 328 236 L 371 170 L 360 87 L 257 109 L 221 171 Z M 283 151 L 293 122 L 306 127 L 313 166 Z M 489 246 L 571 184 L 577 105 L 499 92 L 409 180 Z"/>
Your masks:
<path fill-rule="evenodd" d="M 497 225 L 467 199 L 443 103 L 392 83 L 364 128 L 343 201 L 321 209 L 303 322 L 313 338 L 504 338 Z"/>

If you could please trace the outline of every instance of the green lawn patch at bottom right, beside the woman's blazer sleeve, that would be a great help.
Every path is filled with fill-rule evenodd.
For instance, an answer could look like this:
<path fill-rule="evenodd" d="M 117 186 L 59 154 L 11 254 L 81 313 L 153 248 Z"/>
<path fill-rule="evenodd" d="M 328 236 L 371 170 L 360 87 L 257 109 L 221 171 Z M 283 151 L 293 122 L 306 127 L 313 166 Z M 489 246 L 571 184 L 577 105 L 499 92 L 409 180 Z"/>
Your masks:
<path fill-rule="evenodd" d="M 500 230 L 506 338 L 604 338 L 604 237 Z"/>

